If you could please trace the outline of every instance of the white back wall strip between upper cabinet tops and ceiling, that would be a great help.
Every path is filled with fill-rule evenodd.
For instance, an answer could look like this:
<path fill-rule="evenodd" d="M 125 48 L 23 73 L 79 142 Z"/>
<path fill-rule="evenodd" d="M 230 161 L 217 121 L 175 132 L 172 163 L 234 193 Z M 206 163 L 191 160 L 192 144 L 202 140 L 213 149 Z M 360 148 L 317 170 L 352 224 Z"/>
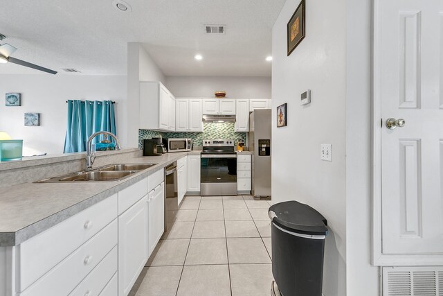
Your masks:
<path fill-rule="evenodd" d="M 271 98 L 271 77 L 168 76 L 168 89 L 178 97 L 213 97 L 225 91 L 230 98 Z"/>

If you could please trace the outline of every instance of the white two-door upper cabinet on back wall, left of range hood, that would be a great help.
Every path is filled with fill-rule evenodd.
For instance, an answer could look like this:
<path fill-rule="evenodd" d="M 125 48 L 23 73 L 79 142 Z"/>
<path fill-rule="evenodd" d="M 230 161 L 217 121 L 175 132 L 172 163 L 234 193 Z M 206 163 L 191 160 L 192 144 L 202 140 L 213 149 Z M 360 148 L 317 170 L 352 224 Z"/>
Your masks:
<path fill-rule="evenodd" d="M 176 132 L 203 132 L 200 98 L 177 98 Z"/>

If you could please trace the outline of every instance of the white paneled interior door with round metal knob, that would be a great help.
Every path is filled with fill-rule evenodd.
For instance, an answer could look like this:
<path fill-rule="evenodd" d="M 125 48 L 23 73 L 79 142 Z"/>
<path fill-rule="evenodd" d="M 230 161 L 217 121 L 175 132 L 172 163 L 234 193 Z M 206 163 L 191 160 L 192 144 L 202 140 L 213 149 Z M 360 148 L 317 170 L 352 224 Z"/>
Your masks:
<path fill-rule="evenodd" d="M 443 256 L 443 1 L 375 3 L 381 253 Z M 389 118 L 404 127 L 387 128 Z"/>

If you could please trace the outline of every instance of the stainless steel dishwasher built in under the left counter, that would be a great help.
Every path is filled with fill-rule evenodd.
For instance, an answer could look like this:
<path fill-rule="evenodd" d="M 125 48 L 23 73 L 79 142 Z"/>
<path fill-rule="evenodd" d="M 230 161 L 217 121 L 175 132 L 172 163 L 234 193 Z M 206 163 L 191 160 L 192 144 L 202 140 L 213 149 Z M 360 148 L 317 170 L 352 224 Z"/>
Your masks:
<path fill-rule="evenodd" d="M 165 232 L 174 224 L 179 210 L 177 194 L 177 162 L 165 167 Z"/>

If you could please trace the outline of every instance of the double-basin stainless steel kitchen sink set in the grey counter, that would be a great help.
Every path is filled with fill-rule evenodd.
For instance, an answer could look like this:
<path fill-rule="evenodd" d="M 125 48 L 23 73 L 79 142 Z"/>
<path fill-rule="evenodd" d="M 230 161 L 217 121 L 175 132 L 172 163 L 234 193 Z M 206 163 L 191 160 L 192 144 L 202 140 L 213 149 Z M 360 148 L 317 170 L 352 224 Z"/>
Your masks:
<path fill-rule="evenodd" d="M 138 171 L 143 171 L 155 165 L 156 164 L 111 164 L 94 168 L 90 171 L 69 173 L 59 177 L 35 181 L 34 183 L 120 181 Z"/>

